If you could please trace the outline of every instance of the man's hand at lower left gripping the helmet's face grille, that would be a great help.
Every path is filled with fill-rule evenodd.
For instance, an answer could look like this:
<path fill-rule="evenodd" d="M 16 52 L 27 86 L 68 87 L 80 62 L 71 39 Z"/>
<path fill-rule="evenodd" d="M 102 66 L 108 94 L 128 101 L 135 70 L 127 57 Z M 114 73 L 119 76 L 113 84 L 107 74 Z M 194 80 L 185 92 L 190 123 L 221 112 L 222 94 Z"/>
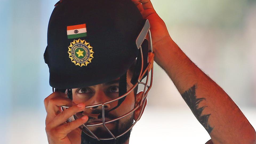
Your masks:
<path fill-rule="evenodd" d="M 54 92 L 44 100 L 47 112 L 45 120 L 45 130 L 48 142 L 59 144 L 81 143 L 81 130 L 78 128 L 87 122 L 88 116 L 76 119 L 75 121 L 66 123 L 67 119 L 75 113 L 85 109 L 85 104 L 76 105 L 73 101 L 66 97 L 64 93 Z M 59 107 L 62 105 L 71 106 L 60 113 Z"/>

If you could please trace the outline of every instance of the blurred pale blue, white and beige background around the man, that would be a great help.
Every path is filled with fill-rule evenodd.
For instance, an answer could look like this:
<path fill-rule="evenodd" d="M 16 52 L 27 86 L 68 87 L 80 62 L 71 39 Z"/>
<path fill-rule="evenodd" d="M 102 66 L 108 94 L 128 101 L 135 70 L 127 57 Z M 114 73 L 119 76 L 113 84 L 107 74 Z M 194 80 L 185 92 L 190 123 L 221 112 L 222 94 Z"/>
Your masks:
<path fill-rule="evenodd" d="M 43 60 L 57 0 L 0 0 L 0 143 L 47 143 Z M 152 0 L 188 57 L 221 86 L 256 128 L 256 1 Z M 158 66 L 130 143 L 205 143 L 209 134 Z"/>

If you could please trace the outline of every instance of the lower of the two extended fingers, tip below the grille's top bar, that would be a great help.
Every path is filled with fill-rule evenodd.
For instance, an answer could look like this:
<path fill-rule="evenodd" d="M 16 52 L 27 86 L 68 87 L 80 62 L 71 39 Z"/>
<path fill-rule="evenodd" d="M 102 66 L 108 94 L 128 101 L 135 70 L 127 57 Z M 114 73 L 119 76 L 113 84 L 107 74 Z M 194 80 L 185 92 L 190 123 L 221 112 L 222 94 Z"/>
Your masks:
<path fill-rule="evenodd" d="M 61 125 L 57 127 L 57 131 L 61 131 L 61 133 L 68 134 L 72 130 L 77 129 L 82 124 L 86 123 L 88 121 L 88 116 L 83 116 L 82 118 L 76 119 L 75 121 L 65 123 L 64 125 Z"/>

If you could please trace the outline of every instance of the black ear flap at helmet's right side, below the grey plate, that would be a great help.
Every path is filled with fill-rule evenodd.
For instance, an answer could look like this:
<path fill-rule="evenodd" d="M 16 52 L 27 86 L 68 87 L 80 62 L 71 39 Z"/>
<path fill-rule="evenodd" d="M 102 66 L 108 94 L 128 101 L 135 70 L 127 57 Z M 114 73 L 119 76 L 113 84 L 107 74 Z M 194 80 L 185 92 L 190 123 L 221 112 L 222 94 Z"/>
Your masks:
<path fill-rule="evenodd" d="M 142 48 L 142 54 L 143 54 L 143 69 L 142 69 L 142 73 L 143 73 L 148 65 L 149 42 L 147 41 L 147 39 L 145 39 L 142 42 L 141 48 Z M 142 63 L 141 51 L 139 50 L 139 54 L 137 56 L 137 61 L 135 64 L 135 69 L 133 71 L 133 76 L 131 78 L 131 83 L 133 85 L 135 85 L 135 83 L 138 82 L 139 74 L 141 72 L 141 63 Z M 147 76 L 147 73 L 143 75 L 142 79 L 145 78 L 146 76 Z"/>

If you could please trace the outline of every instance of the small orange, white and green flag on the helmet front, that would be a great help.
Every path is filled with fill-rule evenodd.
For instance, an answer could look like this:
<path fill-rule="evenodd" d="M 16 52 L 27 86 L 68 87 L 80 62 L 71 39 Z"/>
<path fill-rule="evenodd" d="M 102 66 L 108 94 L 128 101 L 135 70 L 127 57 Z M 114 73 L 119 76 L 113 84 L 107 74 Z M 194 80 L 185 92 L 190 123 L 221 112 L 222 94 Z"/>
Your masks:
<path fill-rule="evenodd" d="M 67 26 L 68 39 L 81 38 L 86 36 L 86 24 Z"/>

